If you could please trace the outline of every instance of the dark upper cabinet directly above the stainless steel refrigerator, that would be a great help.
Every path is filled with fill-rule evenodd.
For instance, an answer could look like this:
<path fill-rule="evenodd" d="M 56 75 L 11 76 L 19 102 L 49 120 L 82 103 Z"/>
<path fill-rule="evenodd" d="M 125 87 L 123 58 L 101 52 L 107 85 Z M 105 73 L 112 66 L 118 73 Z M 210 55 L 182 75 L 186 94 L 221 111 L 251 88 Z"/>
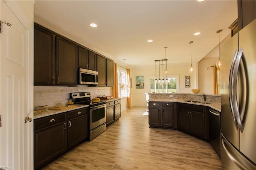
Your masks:
<path fill-rule="evenodd" d="M 238 0 L 238 31 L 256 19 L 256 1 Z"/>

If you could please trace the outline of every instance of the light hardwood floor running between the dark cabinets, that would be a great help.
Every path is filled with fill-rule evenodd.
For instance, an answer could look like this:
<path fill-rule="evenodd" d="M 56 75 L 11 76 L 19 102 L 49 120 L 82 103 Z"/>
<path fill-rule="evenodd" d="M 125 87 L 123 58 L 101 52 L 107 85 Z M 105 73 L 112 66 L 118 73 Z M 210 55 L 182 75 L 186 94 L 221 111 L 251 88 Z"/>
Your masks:
<path fill-rule="evenodd" d="M 219 170 L 212 146 L 178 130 L 149 128 L 145 107 L 122 112 L 116 123 L 83 142 L 44 170 Z"/>

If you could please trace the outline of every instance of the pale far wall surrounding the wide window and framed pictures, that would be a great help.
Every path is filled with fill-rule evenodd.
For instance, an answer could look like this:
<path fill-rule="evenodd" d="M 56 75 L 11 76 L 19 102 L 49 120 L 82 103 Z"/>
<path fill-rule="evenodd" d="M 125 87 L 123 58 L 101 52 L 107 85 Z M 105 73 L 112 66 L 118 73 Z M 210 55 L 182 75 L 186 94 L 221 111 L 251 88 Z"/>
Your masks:
<path fill-rule="evenodd" d="M 168 69 L 168 75 L 179 75 L 180 79 L 180 93 L 192 93 L 191 89 L 196 89 L 198 86 L 196 74 L 197 67 L 195 67 L 194 73 L 188 73 L 188 67 L 170 67 Z M 158 69 L 158 68 L 157 68 Z M 132 106 L 145 106 L 146 107 L 146 96 L 145 93 L 150 93 L 150 77 L 155 77 L 155 66 L 151 68 L 131 68 L 131 78 L 132 78 Z M 144 89 L 136 89 L 136 76 L 144 76 Z M 185 87 L 185 76 L 190 76 L 190 87 Z M 159 77 L 159 73 L 157 78 Z M 160 78 L 162 77 L 160 73 Z"/>

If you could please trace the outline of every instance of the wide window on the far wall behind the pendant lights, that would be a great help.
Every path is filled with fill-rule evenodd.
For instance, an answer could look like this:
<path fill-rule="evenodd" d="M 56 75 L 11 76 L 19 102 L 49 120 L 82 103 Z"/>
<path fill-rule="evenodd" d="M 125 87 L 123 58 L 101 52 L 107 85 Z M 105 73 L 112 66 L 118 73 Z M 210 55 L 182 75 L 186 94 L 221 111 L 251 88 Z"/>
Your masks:
<path fill-rule="evenodd" d="M 168 83 L 158 83 L 150 77 L 150 93 L 180 93 L 179 75 L 170 75 L 167 79 Z"/>

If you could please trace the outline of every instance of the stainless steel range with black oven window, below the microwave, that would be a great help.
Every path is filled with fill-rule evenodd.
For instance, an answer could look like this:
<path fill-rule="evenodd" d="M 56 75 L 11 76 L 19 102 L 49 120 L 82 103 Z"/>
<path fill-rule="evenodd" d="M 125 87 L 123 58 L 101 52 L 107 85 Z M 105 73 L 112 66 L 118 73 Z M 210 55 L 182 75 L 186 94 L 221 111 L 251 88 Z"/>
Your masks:
<path fill-rule="evenodd" d="M 89 140 L 106 130 L 106 102 L 92 102 L 90 92 L 70 93 L 74 104 L 89 105 Z"/>

